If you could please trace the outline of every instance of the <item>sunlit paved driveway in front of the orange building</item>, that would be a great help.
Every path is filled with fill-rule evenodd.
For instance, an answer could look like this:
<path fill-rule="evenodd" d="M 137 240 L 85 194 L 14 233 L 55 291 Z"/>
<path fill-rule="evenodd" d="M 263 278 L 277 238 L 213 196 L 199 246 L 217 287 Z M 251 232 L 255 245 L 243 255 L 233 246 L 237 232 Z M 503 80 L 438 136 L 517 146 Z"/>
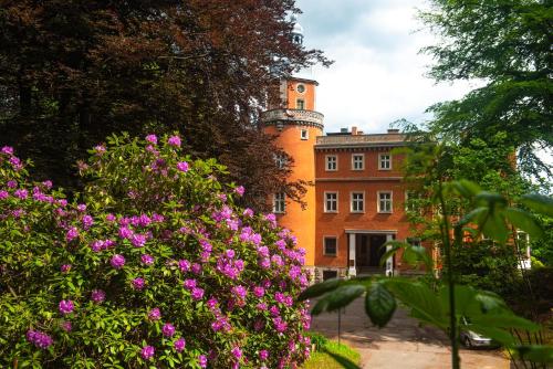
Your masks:
<path fill-rule="evenodd" d="M 446 335 L 398 309 L 388 325 L 378 329 L 365 315 L 363 298 L 342 310 L 342 340 L 362 355 L 363 368 L 445 369 L 451 368 L 451 351 Z M 337 339 L 337 313 L 313 318 L 312 329 Z M 499 350 L 461 348 L 462 369 L 508 369 L 509 361 Z"/>

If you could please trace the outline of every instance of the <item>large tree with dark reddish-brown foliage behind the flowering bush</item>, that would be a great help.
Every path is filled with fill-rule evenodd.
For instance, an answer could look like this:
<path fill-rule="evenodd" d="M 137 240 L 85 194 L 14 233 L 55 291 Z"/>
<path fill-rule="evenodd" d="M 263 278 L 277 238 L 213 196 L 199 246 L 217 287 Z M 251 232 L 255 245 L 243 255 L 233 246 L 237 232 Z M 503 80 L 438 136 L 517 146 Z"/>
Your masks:
<path fill-rule="evenodd" d="M 75 160 L 111 133 L 178 129 L 249 187 L 246 202 L 282 187 L 298 198 L 255 124 L 275 78 L 330 63 L 291 41 L 298 12 L 293 0 L 2 1 L 0 137 L 75 189 Z"/>

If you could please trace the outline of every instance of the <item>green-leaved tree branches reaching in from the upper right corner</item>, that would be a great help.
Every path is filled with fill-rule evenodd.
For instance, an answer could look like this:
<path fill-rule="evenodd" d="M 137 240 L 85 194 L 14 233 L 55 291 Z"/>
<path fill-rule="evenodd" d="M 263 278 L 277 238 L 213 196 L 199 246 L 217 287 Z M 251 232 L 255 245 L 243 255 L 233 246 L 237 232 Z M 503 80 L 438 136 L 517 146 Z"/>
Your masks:
<path fill-rule="evenodd" d="M 432 0 L 421 20 L 441 36 L 422 51 L 436 64 L 436 81 L 478 78 L 486 83 L 459 101 L 430 107 L 430 130 L 442 138 L 488 144 L 508 133 L 525 175 L 551 176 L 536 149 L 553 144 L 551 0 Z"/>

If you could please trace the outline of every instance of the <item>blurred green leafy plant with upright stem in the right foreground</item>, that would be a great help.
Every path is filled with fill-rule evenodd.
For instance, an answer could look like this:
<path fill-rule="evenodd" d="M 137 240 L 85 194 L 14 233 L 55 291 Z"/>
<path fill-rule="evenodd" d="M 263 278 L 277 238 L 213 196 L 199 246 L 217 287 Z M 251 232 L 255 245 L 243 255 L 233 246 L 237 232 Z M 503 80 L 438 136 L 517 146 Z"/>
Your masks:
<path fill-rule="evenodd" d="M 457 196 L 467 201 L 473 209 L 466 214 L 451 220 L 449 207 L 445 203 L 445 194 Z M 422 283 L 409 278 L 353 278 L 348 281 L 331 280 L 307 288 L 301 298 L 319 297 L 313 307 L 313 314 L 333 310 L 349 304 L 354 298 L 366 293 L 365 307 L 368 317 L 378 327 L 386 325 L 396 308 L 395 299 L 401 301 L 411 316 L 425 324 L 434 325 L 450 336 L 452 346 L 452 367 L 459 368 L 458 345 L 461 318 L 471 321 L 471 330 L 490 337 L 493 340 L 513 348 L 523 360 L 546 365 L 553 359 L 553 348 L 532 345 L 518 345 L 513 331 L 526 331 L 529 335 L 538 333 L 540 327 L 525 318 L 517 316 L 494 293 L 477 289 L 472 286 L 455 284 L 455 264 L 451 250 L 458 249 L 466 235 L 467 226 L 478 233 L 504 244 L 509 235 L 509 226 L 524 230 L 531 236 L 540 238 L 543 231 L 531 213 L 510 207 L 507 200 L 497 193 L 482 191 L 473 182 L 460 180 L 437 184 L 434 201 L 441 205 L 439 217 L 441 239 L 446 253 L 445 268 L 447 282 L 436 284 Z M 521 201 L 534 211 L 551 211 L 551 199 L 540 196 L 525 196 Z M 451 240 L 452 236 L 452 240 Z M 425 255 L 420 246 L 390 243 L 393 252 L 404 249 L 409 263 L 424 263 L 431 272 L 431 260 Z M 384 255 L 387 257 L 388 255 Z M 385 260 L 383 257 L 383 260 Z"/>

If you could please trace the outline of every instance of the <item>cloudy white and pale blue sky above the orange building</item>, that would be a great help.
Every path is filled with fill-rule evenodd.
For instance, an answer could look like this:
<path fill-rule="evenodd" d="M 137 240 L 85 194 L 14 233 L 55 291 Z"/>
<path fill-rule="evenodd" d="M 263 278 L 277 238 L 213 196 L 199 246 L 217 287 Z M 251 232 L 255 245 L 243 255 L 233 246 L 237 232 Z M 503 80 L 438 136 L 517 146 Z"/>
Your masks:
<path fill-rule="evenodd" d="M 334 60 L 314 67 L 319 81 L 316 109 L 325 116 L 325 131 L 357 126 L 383 133 L 400 118 L 422 123 L 425 109 L 459 98 L 467 82 L 436 85 L 425 77 L 431 60 L 418 54 L 435 39 L 416 32 L 416 8 L 422 0 L 296 0 L 303 14 L 304 44 Z"/>

